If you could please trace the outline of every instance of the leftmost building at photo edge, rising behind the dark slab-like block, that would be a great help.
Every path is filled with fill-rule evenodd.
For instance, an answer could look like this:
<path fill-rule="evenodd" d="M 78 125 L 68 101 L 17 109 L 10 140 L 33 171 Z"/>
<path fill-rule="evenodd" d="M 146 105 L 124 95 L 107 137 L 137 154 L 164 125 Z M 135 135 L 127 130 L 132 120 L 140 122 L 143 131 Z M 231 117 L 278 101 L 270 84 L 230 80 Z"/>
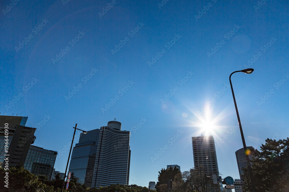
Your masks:
<path fill-rule="evenodd" d="M 12 137 L 16 130 L 16 125 L 25 126 L 27 119 L 28 117 L 0 115 L 0 167 L 2 166 L 2 163 L 4 161 L 5 148 L 7 149 L 10 146 Z M 8 127 L 8 133 L 6 133 L 6 135 L 5 135 L 5 127 Z M 5 147 L 6 142 L 5 139 L 7 138 L 8 138 L 8 145 Z M 35 138 L 33 139 L 32 142 L 34 142 Z"/>

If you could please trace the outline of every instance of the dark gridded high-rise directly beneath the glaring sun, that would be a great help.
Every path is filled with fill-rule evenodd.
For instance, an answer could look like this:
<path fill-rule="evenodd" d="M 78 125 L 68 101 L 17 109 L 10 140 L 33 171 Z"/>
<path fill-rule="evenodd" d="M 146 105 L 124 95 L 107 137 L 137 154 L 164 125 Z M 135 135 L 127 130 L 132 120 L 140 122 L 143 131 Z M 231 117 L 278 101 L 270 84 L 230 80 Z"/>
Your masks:
<path fill-rule="evenodd" d="M 208 175 L 219 175 L 215 142 L 212 135 L 192 137 L 194 167 L 202 166 Z"/>

